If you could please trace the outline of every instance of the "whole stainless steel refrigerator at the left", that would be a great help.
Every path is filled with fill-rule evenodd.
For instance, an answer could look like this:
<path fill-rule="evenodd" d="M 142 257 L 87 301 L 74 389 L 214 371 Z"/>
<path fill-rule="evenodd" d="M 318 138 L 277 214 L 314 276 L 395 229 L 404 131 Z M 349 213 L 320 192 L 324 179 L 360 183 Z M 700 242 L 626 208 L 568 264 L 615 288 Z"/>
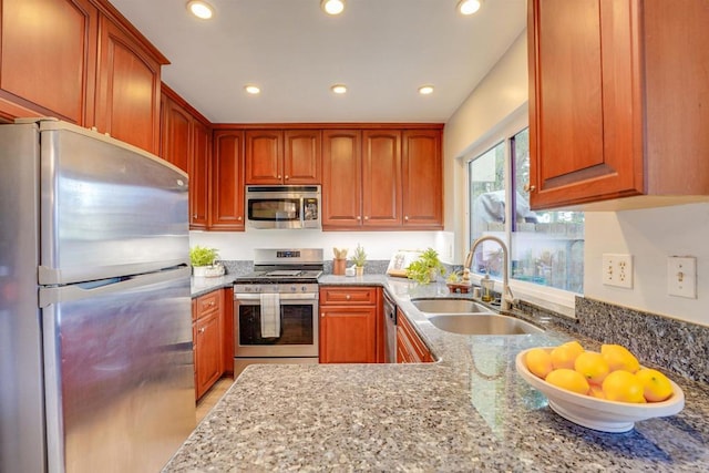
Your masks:
<path fill-rule="evenodd" d="M 0 472 L 155 472 L 195 425 L 187 176 L 0 125 Z"/>

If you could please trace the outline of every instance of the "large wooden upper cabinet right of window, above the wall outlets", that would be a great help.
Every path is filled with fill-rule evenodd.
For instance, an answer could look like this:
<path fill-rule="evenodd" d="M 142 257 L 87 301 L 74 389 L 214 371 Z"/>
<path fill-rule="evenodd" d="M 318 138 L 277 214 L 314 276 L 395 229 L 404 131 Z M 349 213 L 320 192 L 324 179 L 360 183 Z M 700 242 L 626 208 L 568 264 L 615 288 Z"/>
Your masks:
<path fill-rule="evenodd" d="M 528 2 L 533 208 L 706 199 L 706 24 L 701 0 Z"/>

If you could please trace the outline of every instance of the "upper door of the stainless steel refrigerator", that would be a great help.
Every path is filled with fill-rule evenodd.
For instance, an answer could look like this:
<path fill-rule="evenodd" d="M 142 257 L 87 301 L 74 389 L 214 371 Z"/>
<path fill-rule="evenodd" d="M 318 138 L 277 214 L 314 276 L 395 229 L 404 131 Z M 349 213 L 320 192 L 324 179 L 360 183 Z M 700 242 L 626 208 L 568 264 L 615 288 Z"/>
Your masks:
<path fill-rule="evenodd" d="M 189 263 L 183 172 L 95 132 L 50 125 L 40 131 L 40 285 Z"/>

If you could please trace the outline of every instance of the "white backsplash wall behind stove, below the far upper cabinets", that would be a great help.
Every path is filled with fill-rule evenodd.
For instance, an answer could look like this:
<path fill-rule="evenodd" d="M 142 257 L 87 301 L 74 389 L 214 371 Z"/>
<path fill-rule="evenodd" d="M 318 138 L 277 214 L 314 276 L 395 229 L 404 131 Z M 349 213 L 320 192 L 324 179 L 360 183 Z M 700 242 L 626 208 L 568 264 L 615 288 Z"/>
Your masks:
<path fill-rule="evenodd" d="M 254 259 L 254 248 L 322 248 L 326 259 L 332 247 L 349 248 L 351 256 L 361 244 L 369 259 L 391 258 L 397 249 L 435 248 L 441 259 L 448 255 L 452 236 L 444 232 L 320 232 L 320 230 L 247 230 L 191 232 L 189 244 L 219 250 L 222 259 Z M 445 258 L 449 256 L 448 258 Z"/>

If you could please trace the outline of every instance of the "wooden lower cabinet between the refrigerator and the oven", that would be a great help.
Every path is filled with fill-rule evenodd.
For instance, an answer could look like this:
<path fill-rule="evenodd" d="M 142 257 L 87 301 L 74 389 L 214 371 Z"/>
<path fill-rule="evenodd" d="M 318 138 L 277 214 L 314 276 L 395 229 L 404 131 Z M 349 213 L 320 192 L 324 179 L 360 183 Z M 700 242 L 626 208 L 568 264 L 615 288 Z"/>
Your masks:
<path fill-rule="evenodd" d="M 193 300 L 196 399 L 202 398 L 224 373 L 223 297 L 223 290 L 215 290 Z"/>

